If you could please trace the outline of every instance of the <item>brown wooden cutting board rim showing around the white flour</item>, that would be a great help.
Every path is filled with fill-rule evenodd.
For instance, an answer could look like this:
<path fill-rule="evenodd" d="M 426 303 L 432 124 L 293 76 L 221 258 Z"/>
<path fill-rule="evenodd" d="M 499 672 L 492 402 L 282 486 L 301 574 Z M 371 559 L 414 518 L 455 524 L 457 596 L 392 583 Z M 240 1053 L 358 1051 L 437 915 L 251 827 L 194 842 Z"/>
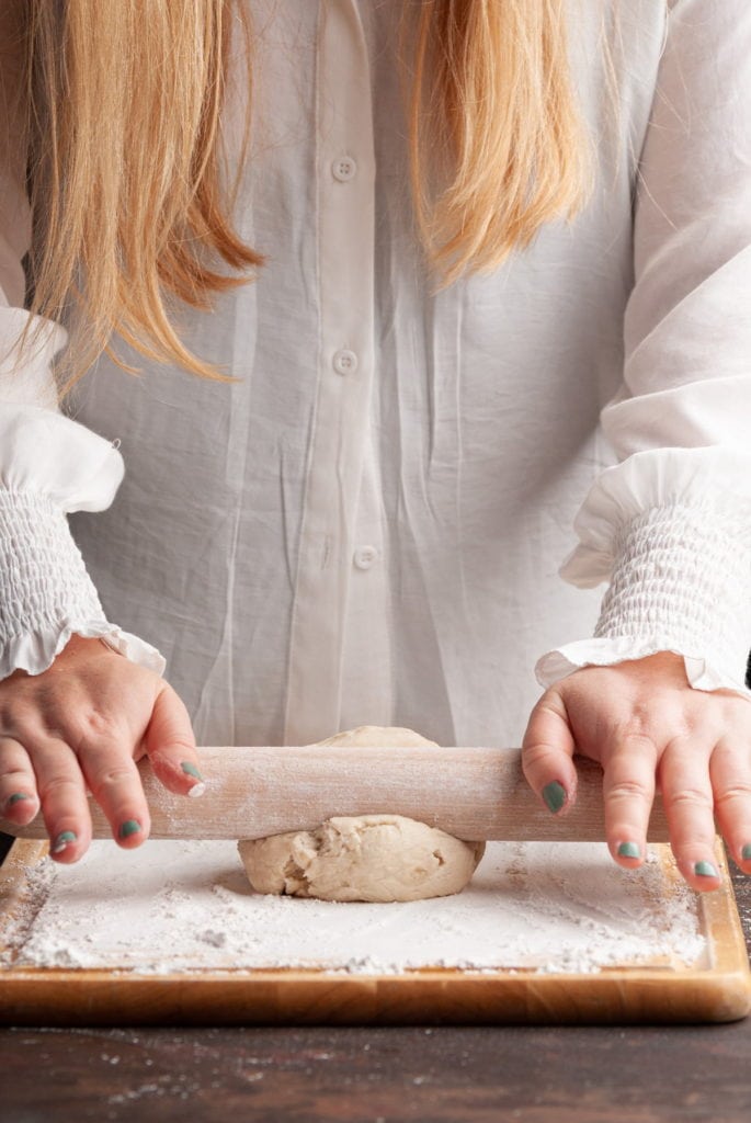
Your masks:
<path fill-rule="evenodd" d="M 677 892 L 679 875 L 669 848 L 659 846 L 656 851 L 662 892 Z M 29 870 L 45 853 L 40 842 L 13 844 L 0 870 L 0 932 L 8 931 L 19 911 L 28 910 Z M 722 887 L 699 897 L 706 951 L 690 966 L 660 955 L 594 974 L 476 971 L 430 964 L 393 975 L 295 968 L 183 971 L 168 966 L 155 974 L 132 965 L 93 970 L 11 962 L 0 971 L 0 1021 L 36 1025 L 734 1021 L 751 1008 L 751 977 L 720 839 L 716 858 Z M 4 944 L 0 935 L 0 950 Z M 168 949 L 165 956 L 168 964 Z"/>

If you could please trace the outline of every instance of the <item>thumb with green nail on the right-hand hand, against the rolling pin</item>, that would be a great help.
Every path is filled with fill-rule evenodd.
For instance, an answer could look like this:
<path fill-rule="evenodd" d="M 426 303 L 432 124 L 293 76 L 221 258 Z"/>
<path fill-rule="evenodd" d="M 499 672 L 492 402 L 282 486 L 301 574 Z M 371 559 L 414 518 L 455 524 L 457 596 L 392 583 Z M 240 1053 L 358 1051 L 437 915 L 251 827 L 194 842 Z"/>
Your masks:
<path fill-rule="evenodd" d="M 542 695 L 532 710 L 522 742 L 522 769 L 549 811 L 567 811 L 576 798 L 574 737 L 558 691 Z"/>

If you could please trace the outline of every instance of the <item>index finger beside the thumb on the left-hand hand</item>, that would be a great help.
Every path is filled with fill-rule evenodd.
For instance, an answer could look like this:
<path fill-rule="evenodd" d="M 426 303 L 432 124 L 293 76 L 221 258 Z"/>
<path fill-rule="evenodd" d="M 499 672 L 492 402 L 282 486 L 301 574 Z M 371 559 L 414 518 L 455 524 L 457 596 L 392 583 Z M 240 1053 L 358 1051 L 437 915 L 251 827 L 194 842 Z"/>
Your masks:
<path fill-rule="evenodd" d="M 77 746 L 89 789 L 104 812 L 118 846 L 134 850 L 148 838 L 152 820 L 127 736 L 92 736 Z"/>

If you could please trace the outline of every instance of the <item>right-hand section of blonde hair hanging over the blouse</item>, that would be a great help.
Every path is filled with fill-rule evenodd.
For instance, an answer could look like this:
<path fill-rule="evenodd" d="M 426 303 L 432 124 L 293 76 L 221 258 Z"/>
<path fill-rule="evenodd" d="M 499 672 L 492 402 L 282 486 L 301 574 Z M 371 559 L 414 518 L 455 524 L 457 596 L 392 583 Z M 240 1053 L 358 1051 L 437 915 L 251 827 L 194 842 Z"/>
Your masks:
<path fill-rule="evenodd" d="M 566 0 L 419 7 L 412 198 L 445 287 L 497 268 L 552 219 L 571 219 L 590 191 L 592 163 L 569 74 Z"/>

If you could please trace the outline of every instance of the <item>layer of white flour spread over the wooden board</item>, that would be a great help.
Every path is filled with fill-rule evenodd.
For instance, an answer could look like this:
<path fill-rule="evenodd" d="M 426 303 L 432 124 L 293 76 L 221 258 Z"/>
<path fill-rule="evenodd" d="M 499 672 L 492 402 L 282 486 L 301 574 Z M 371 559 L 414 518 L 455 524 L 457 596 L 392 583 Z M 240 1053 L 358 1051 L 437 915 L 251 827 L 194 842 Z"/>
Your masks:
<path fill-rule="evenodd" d="M 233 842 L 94 842 L 75 866 L 44 859 L 29 880 L 3 932 L 6 966 L 567 973 L 706 957 L 697 897 L 654 848 L 625 871 L 604 843 L 492 842 L 461 894 L 400 904 L 257 895 Z"/>

